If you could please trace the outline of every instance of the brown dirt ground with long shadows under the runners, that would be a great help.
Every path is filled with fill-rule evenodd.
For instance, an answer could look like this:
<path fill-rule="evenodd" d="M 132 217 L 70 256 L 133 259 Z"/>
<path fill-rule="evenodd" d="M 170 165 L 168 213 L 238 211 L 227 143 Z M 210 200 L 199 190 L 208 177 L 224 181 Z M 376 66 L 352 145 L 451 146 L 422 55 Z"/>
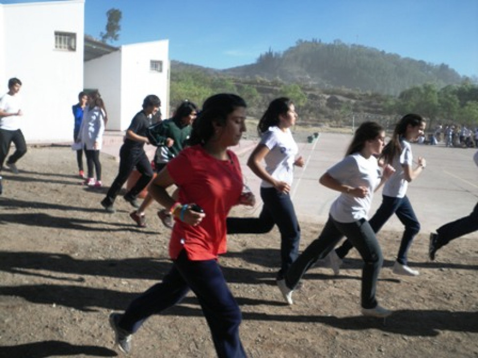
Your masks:
<path fill-rule="evenodd" d="M 101 157 L 109 185 L 118 163 Z M 0 357 L 115 357 L 108 315 L 121 311 L 170 267 L 169 231 L 147 213 L 137 228 L 120 196 L 116 214 L 99 201 L 107 188 L 79 185 L 68 147 L 30 147 L 19 175 L 4 170 L 0 196 Z M 250 209 L 234 209 L 248 215 Z M 301 249 L 324 223 L 301 222 Z M 386 230 L 386 226 L 384 228 Z M 243 313 L 240 335 L 249 357 L 478 357 L 477 236 L 458 239 L 427 259 L 428 233 L 415 239 L 410 266 L 391 266 L 401 233 L 379 234 L 385 256 L 378 299 L 395 313 L 359 314 L 357 253 L 334 276 L 314 268 L 287 306 L 274 278 L 279 234 L 229 237 L 220 259 Z M 118 353 L 117 353 L 118 352 Z M 215 357 L 193 295 L 151 317 L 133 336 L 132 357 Z"/>

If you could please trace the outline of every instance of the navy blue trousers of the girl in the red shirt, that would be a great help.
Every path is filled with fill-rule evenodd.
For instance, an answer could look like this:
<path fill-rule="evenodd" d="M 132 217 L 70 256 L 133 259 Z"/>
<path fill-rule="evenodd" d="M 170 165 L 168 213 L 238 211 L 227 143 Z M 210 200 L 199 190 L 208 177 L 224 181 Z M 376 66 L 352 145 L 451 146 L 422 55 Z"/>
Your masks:
<path fill-rule="evenodd" d="M 218 357 L 246 357 L 239 338 L 242 316 L 216 260 L 191 261 L 183 250 L 161 283 L 131 302 L 119 327 L 135 333 L 155 313 L 179 303 L 192 290 L 201 305 Z"/>

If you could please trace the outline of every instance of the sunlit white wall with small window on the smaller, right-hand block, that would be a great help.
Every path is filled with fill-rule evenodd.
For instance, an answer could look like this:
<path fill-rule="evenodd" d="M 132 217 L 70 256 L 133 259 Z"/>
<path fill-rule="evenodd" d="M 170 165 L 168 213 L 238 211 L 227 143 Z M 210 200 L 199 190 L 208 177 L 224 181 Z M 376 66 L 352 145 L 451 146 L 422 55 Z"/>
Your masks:
<path fill-rule="evenodd" d="M 121 130 L 128 128 L 142 109 L 143 99 L 156 94 L 161 99 L 163 118 L 168 109 L 169 41 L 154 41 L 121 46 Z M 163 71 L 150 70 L 150 61 L 163 61 Z"/>

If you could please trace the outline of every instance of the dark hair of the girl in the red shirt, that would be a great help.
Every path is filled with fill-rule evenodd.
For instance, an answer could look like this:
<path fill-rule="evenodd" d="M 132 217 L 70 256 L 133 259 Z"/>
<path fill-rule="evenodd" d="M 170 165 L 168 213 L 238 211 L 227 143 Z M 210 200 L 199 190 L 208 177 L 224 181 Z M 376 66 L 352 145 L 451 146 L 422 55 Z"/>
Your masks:
<path fill-rule="evenodd" d="M 227 116 L 239 107 L 246 108 L 247 105 L 237 94 L 219 93 L 206 99 L 201 112 L 192 123 L 189 144 L 205 144 L 208 142 L 214 135 L 213 123 L 219 126 L 225 125 Z"/>

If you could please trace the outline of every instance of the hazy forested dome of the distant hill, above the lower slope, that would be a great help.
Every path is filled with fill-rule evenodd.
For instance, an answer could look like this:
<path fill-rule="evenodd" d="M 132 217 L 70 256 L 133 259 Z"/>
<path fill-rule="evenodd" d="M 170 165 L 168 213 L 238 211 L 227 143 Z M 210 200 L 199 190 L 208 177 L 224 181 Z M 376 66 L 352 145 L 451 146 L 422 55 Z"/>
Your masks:
<path fill-rule="evenodd" d="M 392 95 L 425 83 L 441 88 L 464 79 L 445 64 L 433 65 L 376 48 L 346 45 L 339 40 L 333 44 L 300 40 L 283 53 L 269 49 L 255 64 L 222 73 L 234 77 L 260 76 L 322 89 L 345 88 Z"/>

